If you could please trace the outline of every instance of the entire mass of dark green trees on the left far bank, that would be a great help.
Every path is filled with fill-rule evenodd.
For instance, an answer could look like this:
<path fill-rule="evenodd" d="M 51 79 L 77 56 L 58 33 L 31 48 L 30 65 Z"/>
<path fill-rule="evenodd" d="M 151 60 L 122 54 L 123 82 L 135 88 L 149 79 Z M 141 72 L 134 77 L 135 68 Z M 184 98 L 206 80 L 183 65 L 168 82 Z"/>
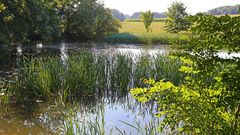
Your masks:
<path fill-rule="evenodd" d="M 0 42 L 98 39 L 120 27 L 97 0 L 3 1 L 0 12 Z"/>

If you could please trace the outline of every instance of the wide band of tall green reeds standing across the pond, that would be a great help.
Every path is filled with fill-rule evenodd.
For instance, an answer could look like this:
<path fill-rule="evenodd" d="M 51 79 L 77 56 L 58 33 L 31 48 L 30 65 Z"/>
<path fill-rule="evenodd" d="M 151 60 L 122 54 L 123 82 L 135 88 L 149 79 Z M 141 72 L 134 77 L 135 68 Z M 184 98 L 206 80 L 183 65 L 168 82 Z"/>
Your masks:
<path fill-rule="evenodd" d="M 139 86 L 142 78 L 169 79 L 179 83 L 181 63 L 169 56 L 132 53 L 72 53 L 65 64 L 57 56 L 24 58 L 19 77 L 11 87 L 18 101 L 65 97 L 116 97 Z"/>

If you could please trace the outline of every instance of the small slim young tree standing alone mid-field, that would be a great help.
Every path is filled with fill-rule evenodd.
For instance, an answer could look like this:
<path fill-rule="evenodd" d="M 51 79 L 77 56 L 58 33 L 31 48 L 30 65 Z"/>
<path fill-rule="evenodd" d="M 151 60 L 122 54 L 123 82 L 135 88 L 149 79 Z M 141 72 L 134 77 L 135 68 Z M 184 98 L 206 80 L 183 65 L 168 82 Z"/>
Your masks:
<path fill-rule="evenodd" d="M 141 17 L 142 17 L 142 22 L 144 23 L 146 31 L 149 32 L 151 30 L 150 26 L 153 21 L 153 13 L 151 11 L 147 11 L 142 13 Z"/>

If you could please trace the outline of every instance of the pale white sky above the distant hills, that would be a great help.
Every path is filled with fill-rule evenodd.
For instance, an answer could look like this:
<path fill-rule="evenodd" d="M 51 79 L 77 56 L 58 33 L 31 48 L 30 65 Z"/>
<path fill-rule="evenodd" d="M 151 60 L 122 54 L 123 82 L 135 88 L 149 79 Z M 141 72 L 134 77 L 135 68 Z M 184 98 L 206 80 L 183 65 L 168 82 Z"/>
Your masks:
<path fill-rule="evenodd" d="M 101 0 L 105 7 L 120 10 L 124 14 L 132 15 L 134 12 L 151 10 L 165 12 L 174 1 L 181 1 L 187 7 L 187 12 L 195 14 L 210 9 L 240 4 L 240 0 Z"/>

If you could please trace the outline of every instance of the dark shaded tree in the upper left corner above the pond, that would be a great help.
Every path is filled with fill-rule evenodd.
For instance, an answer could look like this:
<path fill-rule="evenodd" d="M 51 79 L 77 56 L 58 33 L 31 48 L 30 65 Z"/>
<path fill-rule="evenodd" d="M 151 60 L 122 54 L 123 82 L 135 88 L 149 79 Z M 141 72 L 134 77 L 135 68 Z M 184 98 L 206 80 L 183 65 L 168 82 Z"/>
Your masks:
<path fill-rule="evenodd" d="M 52 0 L 5 0 L 0 29 L 9 42 L 49 41 L 60 36 Z"/>

